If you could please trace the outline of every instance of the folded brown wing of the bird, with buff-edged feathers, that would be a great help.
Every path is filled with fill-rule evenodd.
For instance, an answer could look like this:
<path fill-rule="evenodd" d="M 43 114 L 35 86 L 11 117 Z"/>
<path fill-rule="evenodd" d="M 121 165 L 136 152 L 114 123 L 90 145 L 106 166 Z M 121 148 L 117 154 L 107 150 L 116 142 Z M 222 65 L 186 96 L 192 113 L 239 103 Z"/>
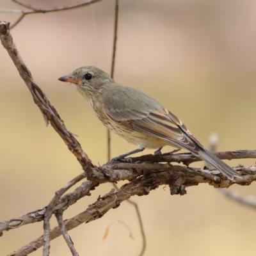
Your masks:
<path fill-rule="evenodd" d="M 179 148 L 186 148 L 196 156 L 202 145 L 191 135 L 187 127 L 167 109 L 138 111 L 136 109 L 105 109 L 114 122 L 131 127 L 135 131 L 162 139 Z"/>

